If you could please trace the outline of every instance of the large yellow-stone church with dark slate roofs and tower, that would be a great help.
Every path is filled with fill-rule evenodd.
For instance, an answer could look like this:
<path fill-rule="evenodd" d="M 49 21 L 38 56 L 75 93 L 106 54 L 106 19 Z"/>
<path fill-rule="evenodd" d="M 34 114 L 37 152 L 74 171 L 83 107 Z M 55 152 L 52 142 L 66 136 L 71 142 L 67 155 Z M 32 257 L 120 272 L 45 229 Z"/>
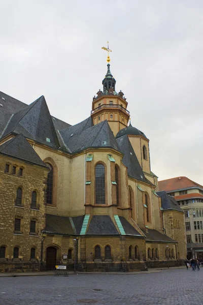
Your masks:
<path fill-rule="evenodd" d="M 184 213 L 158 192 L 149 139 L 129 124 L 107 67 L 90 117 L 74 126 L 51 116 L 44 96 L 26 105 L 0 93 L 0 271 L 130 271 L 186 258 Z"/>

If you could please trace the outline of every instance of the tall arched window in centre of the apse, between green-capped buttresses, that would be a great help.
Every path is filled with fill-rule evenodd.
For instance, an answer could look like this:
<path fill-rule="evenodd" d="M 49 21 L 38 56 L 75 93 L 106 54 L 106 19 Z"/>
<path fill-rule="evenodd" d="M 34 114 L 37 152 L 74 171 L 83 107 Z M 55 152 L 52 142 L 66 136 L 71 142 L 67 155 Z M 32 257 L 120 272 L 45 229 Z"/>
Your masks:
<path fill-rule="evenodd" d="M 95 203 L 105 204 L 105 167 L 103 164 L 97 164 L 95 167 Z"/>

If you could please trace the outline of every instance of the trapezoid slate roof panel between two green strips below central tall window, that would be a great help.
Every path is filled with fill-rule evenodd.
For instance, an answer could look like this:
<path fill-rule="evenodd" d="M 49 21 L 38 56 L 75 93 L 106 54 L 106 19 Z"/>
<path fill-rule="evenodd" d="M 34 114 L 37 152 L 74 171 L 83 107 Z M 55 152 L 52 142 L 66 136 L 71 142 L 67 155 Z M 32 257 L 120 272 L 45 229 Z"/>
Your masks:
<path fill-rule="evenodd" d="M 93 215 L 86 235 L 119 235 L 109 215 Z"/>

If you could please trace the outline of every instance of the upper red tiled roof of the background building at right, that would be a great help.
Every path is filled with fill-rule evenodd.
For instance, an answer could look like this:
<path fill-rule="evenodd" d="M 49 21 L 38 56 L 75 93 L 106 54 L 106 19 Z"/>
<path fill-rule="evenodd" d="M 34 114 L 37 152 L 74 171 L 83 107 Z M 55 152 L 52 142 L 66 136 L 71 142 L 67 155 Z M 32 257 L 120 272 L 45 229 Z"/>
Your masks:
<path fill-rule="evenodd" d="M 175 190 L 186 189 L 191 187 L 203 188 L 198 183 L 183 176 L 158 181 L 159 191 L 169 192 L 169 191 L 175 191 Z"/>

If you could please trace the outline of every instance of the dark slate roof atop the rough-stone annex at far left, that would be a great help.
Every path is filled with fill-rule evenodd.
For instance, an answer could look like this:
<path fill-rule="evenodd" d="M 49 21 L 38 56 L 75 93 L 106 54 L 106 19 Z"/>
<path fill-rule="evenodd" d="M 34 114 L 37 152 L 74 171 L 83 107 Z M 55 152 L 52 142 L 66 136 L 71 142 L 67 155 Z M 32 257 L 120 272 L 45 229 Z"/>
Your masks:
<path fill-rule="evenodd" d="M 0 145 L 0 154 L 46 167 L 45 163 L 22 134 Z"/>

